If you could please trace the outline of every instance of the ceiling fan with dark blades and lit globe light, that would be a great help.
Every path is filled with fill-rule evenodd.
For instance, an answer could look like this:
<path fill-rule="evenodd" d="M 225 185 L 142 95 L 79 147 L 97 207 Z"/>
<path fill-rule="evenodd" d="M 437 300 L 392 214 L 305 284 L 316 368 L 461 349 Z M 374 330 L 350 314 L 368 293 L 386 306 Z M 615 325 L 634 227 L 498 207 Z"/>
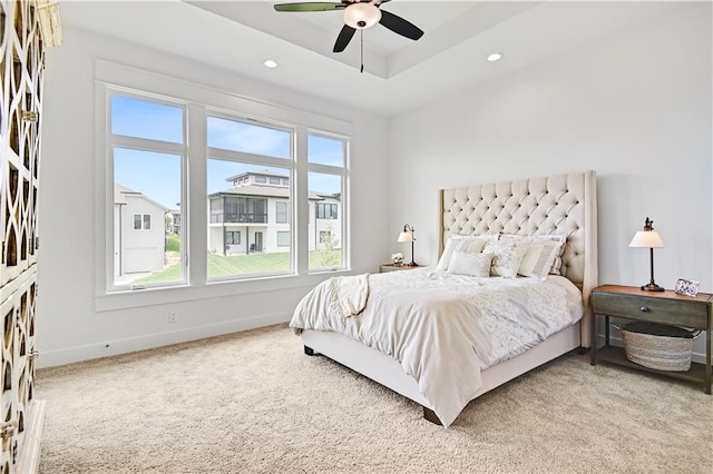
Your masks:
<path fill-rule="evenodd" d="M 364 30 L 377 23 L 381 23 L 394 33 L 412 40 L 421 38 L 423 31 L 416 24 L 379 8 L 388 1 L 390 0 L 342 0 L 340 3 L 319 1 L 280 3 L 275 4 L 275 10 L 296 12 L 343 10 L 344 26 L 336 37 L 334 52 L 344 51 L 356 30 Z"/>

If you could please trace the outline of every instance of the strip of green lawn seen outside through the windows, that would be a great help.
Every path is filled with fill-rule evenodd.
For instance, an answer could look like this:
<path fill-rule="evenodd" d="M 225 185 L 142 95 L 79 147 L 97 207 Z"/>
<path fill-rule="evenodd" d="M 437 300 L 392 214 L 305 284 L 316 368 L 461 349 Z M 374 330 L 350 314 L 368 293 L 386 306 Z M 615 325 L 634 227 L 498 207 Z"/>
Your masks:
<path fill-rule="evenodd" d="M 177 239 L 176 239 L 177 245 Z M 166 243 L 168 249 L 168 240 Z M 310 268 L 340 266 L 341 250 L 310 251 Z M 290 271 L 290 254 L 254 254 L 224 257 L 208 255 L 208 277 L 226 275 L 246 275 L 271 271 Z M 170 282 L 180 279 L 180 265 L 169 265 L 162 271 L 137 279 L 135 283 Z"/>

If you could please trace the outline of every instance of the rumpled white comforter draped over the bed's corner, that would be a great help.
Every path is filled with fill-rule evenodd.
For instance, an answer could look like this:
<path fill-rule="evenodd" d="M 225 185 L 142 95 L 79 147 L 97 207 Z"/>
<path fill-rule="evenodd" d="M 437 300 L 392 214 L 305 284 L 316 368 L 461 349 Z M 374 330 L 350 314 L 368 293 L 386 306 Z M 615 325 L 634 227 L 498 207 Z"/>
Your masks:
<path fill-rule="evenodd" d="M 334 310 L 335 287 L 333 279 L 323 282 L 300 302 L 290 323 L 294 333 L 338 332 L 397 358 L 445 426 L 479 391 L 480 371 L 583 314 L 579 290 L 553 276 L 476 278 L 432 267 L 369 275 L 368 299 L 356 315 Z"/>

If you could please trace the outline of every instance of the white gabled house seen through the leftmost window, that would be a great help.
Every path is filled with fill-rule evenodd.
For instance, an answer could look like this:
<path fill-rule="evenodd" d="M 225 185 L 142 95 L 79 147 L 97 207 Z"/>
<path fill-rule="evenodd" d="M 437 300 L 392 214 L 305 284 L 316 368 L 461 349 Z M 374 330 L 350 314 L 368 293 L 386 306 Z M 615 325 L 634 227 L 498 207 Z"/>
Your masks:
<path fill-rule="evenodd" d="M 114 275 L 164 268 L 168 208 L 143 194 L 114 187 Z"/>

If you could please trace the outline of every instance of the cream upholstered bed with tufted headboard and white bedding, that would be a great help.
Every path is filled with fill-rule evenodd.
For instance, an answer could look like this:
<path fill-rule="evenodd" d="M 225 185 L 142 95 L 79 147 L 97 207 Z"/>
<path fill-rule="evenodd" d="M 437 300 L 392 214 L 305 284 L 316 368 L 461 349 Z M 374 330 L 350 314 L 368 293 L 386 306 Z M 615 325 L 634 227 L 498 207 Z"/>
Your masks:
<path fill-rule="evenodd" d="M 449 426 L 478 396 L 573 349 L 589 347 L 588 303 L 597 285 L 596 175 L 442 189 L 439 209 L 437 265 L 330 278 L 297 305 L 291 327 L 301 336 L 305 354 L 324 355 L 391 388 L 420 404 L 426 419 Z M 561 240 L 558 269 L 551 268 L 559 276 L 549 275 L 549 265 L 541 278 L 448 271 L 456 258 L 494 258 L 492 248 L 500 241 L 516 248 L 520 244 L 512 241 L 527 241 L 526 247 L 549 239 Z M 486 240 L 482 251 L 463 250 L 461 241 L 470 246 L 480 240 Z M 487 264 L 490 270 L 496 260 Z M 554 293 L 544 295 L 545 289 Z M 506 296 L 516 299 L 505 302 Z M 494 306 L 488 306 L 491 300 Z M 539 315 L 529 316 L 535 309 Z M 521 347 L 509 336 L 504 336 L 505 343 L 495 342 L 500 337 L 496 330 L 524 324 L 525 314 L 536 329 L 526 332 L 537 333 L 536 339 Z M 331 320 L 320 319 L 326 315 Z M 555 316 L 559 319 L 550 322 Z M 499 320 L 506 323 L 495 324 Z M 488 347 L 480 347 L 486 339 Z M 478 344 L 468 346 L 473 340 Z M 509 352 L 501 350 L 506 346 Z"/>

